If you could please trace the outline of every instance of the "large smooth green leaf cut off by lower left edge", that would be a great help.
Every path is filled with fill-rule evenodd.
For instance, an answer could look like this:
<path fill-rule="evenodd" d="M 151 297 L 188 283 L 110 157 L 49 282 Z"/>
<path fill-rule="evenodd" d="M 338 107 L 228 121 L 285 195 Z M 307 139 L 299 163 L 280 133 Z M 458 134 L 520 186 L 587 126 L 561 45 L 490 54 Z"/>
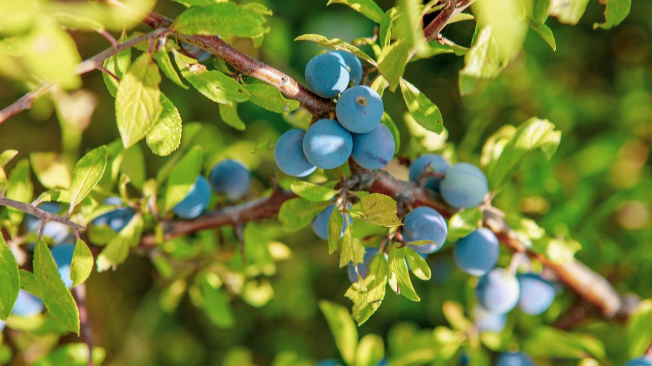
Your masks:
<path fill-rule="evenodd" d="M 3 235 L 0 235 L 0 319 L 7 320 L 14 308 L 20 290 L 20 275 L 18 262 L 7 246 Z"/>

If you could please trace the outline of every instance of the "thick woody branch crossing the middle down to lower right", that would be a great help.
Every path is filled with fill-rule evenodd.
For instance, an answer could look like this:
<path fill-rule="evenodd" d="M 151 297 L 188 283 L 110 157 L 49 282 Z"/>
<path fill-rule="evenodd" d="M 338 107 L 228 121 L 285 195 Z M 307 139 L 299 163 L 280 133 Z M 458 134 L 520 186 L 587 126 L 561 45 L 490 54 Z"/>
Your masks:
<path fill-rule="evenodd" d="M 443 203 L 436 193 L 417 186 L 412 182 L 399 180 L 386 171 L 357 171 L 344 180 L 343 187 L 351 190 L 367 190 L 372 193 L 383 193 L 397 201 L 403 201 L 411 206 L 429 206 L 435 208 L 443 216 L 449 218 L 457 212 Z M 280 206 L 296 197 L 294 193 L 279 191 L 270 197 L 257 199 L 247 203 L 222 208 L 209 212 L 200 218 L 190 221 L 175 221 L 168 227 L 166 239 L 191 234 L 203 229 L 222 225 L 240 225 L 247 221 L 259 221 L 271 218 L 278 213 Z M 625 301 L 601 275 L 578 260 L 564 264 L 552 262 L 544 255 L 530 251 L 518 240 L 509 224 L 503 218 L 503 213 L 496 208 L 484 210 L 484 227 L 494 231 L 501 243 L 512 251 L 526 253 L 529 257 L 540 260 L 548 267 L 557 279 L 569 289 L 576 292 L 585 302 L 597 308 L 606 318 L 627 318 L 634 309 L 631 301 Z M 144 236 L 142 246 L 156 245 L 155 236 Z"/>

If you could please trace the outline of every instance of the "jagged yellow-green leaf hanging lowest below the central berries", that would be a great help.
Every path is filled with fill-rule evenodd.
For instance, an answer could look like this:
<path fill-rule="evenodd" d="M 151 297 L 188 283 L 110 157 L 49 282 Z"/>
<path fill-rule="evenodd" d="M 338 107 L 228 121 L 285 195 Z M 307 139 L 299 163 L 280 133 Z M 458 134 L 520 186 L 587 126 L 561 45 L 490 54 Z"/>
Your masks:
<path fill-rule="evenodd" d="M 387 260 L 382 255 L 376 255 L 369 264 L 369 275 L 346 290 L 344 296 L 353 302 L 351 316 L 359 326 L 374 315 L 383 302 L 388 274 Z"/>

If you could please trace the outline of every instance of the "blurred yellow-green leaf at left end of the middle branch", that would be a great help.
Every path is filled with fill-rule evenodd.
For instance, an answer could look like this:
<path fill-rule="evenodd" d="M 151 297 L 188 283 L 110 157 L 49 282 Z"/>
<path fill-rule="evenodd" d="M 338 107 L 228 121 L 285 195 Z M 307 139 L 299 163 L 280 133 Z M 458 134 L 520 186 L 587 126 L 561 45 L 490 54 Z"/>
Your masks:
<path fill-rule="evenodd" d="M 125 262 L 131 247 L 138 246 L 140 236 L 143 232 L 143 217 L 140 214 L 134 215 L 129 223 L 106 244 L 102 253 L 97 256 L 97 272 L 104 272 L 115 268 L 118 264 Z"/>

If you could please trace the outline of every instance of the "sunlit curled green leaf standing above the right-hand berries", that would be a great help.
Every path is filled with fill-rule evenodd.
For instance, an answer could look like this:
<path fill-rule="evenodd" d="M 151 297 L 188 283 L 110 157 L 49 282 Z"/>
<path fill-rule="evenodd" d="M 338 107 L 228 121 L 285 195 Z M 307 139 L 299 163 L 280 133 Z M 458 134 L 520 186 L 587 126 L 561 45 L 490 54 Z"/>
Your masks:
<path fill-rule="evenodd" d="M 531 118 L 518 126 L 493 169 L 487 171 L 490 190 L 499 190 L 530 152 L 541 150 L 550 159 L 560 141 L 561 131 L 548 120 Z"/>

